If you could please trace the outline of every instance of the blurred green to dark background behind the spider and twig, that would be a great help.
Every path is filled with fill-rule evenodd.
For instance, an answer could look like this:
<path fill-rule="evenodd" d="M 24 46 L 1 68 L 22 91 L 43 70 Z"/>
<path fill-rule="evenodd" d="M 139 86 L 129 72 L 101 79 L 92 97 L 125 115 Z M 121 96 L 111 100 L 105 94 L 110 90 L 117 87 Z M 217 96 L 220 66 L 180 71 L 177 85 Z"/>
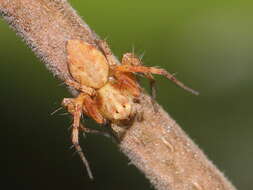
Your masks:
<path fill-rule="evenodd" d="M 134 46 L 145 52 L 146 65 L 176 72 L 200 91 L 196 97 L 156 77 L 158 102 L 238 189 L 252 189 L 252 1 L 70 3 L 118 57 Z M 69 93 L 3 20 L 0 44 L 1 145 L 7 149 L 1 163 L 9 188 L 152 189 L 110 139 L 96 135 L 81 138 L 91 182 L 69 149 L 70 118 L 50 115 Z"/>

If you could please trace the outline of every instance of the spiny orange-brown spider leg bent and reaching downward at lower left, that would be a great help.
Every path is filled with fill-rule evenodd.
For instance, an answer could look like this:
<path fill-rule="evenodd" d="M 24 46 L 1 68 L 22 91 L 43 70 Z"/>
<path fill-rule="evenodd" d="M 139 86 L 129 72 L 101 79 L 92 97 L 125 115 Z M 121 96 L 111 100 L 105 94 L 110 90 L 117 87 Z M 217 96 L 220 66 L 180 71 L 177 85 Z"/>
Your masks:
<path fill-rule="evenodd" d="M 79 154 L 81 160 L 83 161 L 90 179 L 93 179 L 89 163 L 84 156 L 82 148 L 79 145 L 79 127 L 80 127 L 80 118 L 82 115 L 83 100 L 84 99 L 82 97 L 82 94 L 79 95 L 77 98 L 64 98 L 62 101 L 62 105 L 65 106 L 68 112 L 73 115 L 74 121 L 72 125 L 72 143 L 77 153 Z"/>

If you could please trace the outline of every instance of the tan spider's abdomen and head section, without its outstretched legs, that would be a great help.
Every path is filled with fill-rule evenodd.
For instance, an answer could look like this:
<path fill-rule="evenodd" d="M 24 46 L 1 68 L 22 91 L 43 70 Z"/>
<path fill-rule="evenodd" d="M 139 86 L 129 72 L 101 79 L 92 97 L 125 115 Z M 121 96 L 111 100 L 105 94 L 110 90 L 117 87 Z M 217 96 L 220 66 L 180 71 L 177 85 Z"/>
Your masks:
<path fill-rule="evenodd" d="M 64 99 L 63 104 L 69 106 L 69 101 L 72 105 L 80 104 L 82 111 L 100 124 L 106 119 L 128 119 L 133 111 L 132 100 L 140 94 L 134 76 L 120 75 L 114 70 L 117 66 L 109 65 L 100 50 L 83 41 L 69 40 L 67 52 L 68 67 L 74 80 L 66 83 L 81 93 L 76 99 Z"/>

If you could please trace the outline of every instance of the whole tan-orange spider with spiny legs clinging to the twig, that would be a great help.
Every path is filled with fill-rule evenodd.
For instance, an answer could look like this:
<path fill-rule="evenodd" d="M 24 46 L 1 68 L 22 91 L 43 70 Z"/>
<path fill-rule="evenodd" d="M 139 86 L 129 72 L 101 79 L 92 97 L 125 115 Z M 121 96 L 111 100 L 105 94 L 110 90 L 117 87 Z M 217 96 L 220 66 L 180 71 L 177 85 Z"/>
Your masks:
<path fill-rule="evenodd" d="M 163 75 L 183 89 L 198 94 L 166 70 L 143 66 L 133 53 L 124 54 L 119 65 L 105 41 L 98 40 L 97 45 L 98 47 L 78 39 L 67 41 L 67 63 L 72 79 L 65 83 L 80 93 L 75 98 L 64 98 L 62 101 L 62 105 L 73 115 L 72 143 L 91 179 L 93 177 L 88 162 L 78 142 L 79 130 L 83 129 L 80 123 L 82 113 L 99 124 L 107 121 L 121 123 L 134 117 L 137 111 L 133 105 L 141 93 L 135 73 L 150 80 L 153 95 L 155 90 L 152 74 Z"/>

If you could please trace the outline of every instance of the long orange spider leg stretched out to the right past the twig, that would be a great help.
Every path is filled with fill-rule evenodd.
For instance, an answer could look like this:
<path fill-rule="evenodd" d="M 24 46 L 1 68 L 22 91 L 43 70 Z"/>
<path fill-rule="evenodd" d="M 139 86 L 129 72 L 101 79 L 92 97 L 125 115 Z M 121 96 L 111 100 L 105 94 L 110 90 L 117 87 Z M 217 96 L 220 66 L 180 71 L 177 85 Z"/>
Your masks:
<path fill-rule="evenodd" d="M 184 85 L 182 82 L 176 79 L 176 77 L 169 72 L 167 72 L 165 69 L 158 69 L 155 67 L 145 67 L 145 66 L 131 66 L 131 65 L 119 65 L 115 67 L 116 71 L 121 71 L 121 72 L 132 72 L 132 73 L 152 73 L 152 74 L 158 74 L 158 75 L 163 75 L 167 79 L 171 80 L 174 82 L 177 86 L 183 88 L 186 91 L 189 91 L 195 95 L 198 95 L 199 93 L 186 85 Z"/>

